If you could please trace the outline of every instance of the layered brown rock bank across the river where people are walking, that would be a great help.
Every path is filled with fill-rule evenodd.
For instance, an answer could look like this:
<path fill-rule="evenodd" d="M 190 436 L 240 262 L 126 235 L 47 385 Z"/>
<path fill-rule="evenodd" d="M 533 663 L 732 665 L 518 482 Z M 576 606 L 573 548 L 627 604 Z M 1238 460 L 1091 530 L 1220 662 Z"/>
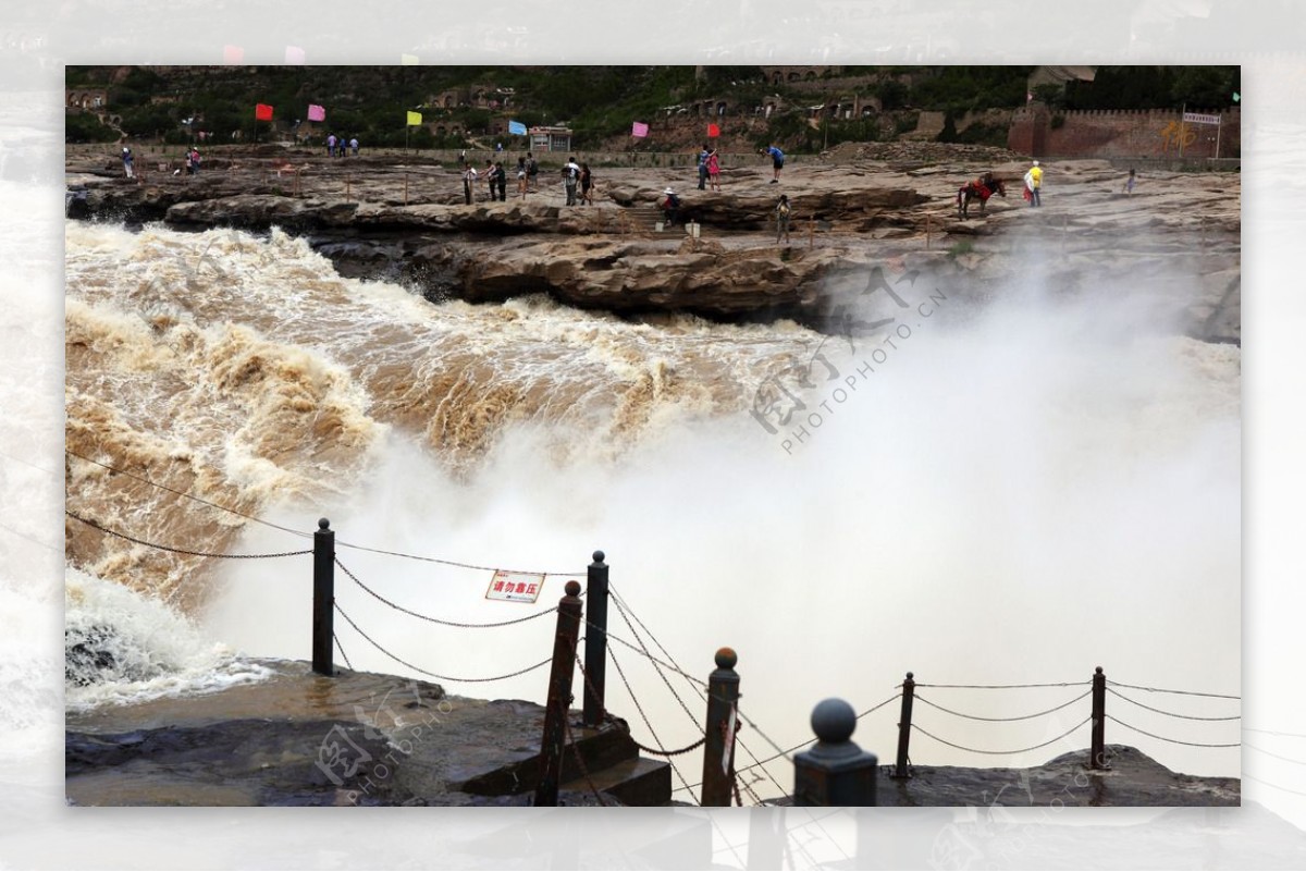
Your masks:
<path fill-rule="evenodd" d="M 721 320 L 795 319 L 835 332 L 845 274 L 930 272 L 983 302 L 1037 273 L 1054 294 L 1145 287 L 1156 316 L 1203 341 L 1241 341 L 1241 176 L 1155 172 L 1122 192 L 1106 161 L 1045 162 L 1045 205 L 1020 198 L 1027 162 L 1004 150 L 940 144 L 841 146 L 786 167 L 725 167 L 722 191 L 692 168 L 596 168 L 593 205 L 567 206 L 542 171 L 538 191 L 462 202 L 456 167 L 376 155 L 324 161 L 279 151 L 212 157 L 196 176 L 167 163 L 142 178 L 99 153 L 71 154 L 69 215 L 178 228 L 272 227 L 308 238 L 353 277 L 404 282 L 430 299 L 498 302 L 547 292 L 579 308 L 631 316 L 690 312 Z M 991 170 L 1008 196 L 956 209 L 957 187 Z M 684 201 L 658 225 L 662 191 Z M 778 195 L 794 208 L 776 244 Z M 688 232 L 696 226 L 696 234 Z M 840 290 L 842 287 L 842 290 Z M 841 295 L 844 299 L 841 299 Z"/>

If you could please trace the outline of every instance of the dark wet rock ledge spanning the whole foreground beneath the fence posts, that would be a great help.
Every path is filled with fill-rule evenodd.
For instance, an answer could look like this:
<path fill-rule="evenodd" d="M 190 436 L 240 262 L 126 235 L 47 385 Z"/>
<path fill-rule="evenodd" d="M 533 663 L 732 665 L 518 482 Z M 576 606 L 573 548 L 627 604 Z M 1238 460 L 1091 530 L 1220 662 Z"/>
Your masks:
<path fill-rule="evenodd" d="M 78 805 L 530 804 L 539 778 L 542 706 L 454 697 L 439 685 L 388 675 L 341 670 L 324 677 L 307 663 L 268 664 L 277 675 L 259 684 L 69 713 L 69 800 Z M 563 804 L 671 803 L 669 765 L 641 757 L 623 723 L 586 730 L 579 711 L 571 719 Z M 874 749 L 870 738 L 859 738 Z M 1107 752 L 1111 768 L 1105 771 L 1084 766 L 1087 751 L 1030 769 L 919 765 L 901 781 L 884 768 L 878 799 L 880 805 L 918 807 L 1239 803 L 1237 778 L 1173 773 L 1123 745 L 1109 745 Z M 701 757 L 688 760 L 682 770 L 696 771 Z M 784 774 L 777 777 L 786 783 Z"/>

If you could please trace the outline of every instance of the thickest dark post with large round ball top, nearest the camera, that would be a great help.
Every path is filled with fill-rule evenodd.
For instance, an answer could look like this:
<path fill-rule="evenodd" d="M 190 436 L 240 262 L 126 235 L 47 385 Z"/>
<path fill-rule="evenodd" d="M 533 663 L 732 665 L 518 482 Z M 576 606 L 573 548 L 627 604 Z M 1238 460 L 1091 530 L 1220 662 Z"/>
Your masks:
<path fill-rule="evenodd" d="M 812 709 L 811 751 L 794 755 L 794 805 L 874 805 L 879 760 L 852 740 L 857 713 L 844 700 Z"/>

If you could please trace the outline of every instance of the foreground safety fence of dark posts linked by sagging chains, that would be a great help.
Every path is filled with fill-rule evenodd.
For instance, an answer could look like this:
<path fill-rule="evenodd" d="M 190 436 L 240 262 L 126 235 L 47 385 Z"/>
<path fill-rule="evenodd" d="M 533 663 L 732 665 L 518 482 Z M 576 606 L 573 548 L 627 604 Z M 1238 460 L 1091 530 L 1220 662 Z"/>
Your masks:
<path fill-rule="evenodd" d="M 69 456 L 86 462 L 98 463 L 98 461 L 90 461 L 89 458 L 84 458 L 73 452 L 68 453 Z M 106 469 L 112 469 L 103 463 L 99 465 L 106 466 Z M 112 471 L 121 473 L 121 470 Z M 123 474 L 132 475 L 129 473 Z M 132 478 L 153 484 L 153 482 L 149 482 L 146 478 L 136 475 L 132 475 Z M 195 497 L 182 491 L 174 491 L 172 488 L 167 488 L 165 486 L 155 487 L 161 487 L 162 490 L 171 491 L 187 499 L 197 500 L 199 503 L 213 508 L 230 510 L 225 506 Z M 550 666 L 545 705 L 546 714 L 541 740 L 541 760 L 543 762 L 543 768 L 541 770 L 539 785 L 535 792 L 535 804 L 539 805 L 556 804 L 563 757 L 568 748 L 571 748 L 571 753 L 575 756 L 576 769 L 593 788 L 597 800 L 601 804 L 605 802 L 602 794 L 594 788 L 592 773 L 586 769 L 585 761 L 582 760 L 581 752 L 572 734 L 573 724 L 571 723 L 572 719 L 568 717 L 568 713 L 573 698 L 572 684 L 576 674 L 579 672 L 582 684 L 580 726 L 589 730 L 615 727 L 629 735 L 629 727 L 626 722 L 614 717 L 606 708 L 609 663 L 611 663 L 615 670 L 616 677 L 620 680 L 628 698 L 633 704 L 640 722 L 652 738 L 649 744 L 636 741 L 633 736 L 631 736 L 631 741 L 641 752 L 665 758 L 675 779 L 679 782 L 679 786 L 674 787 L 673 791 L 687 794 L 691 802 L 700 805 L 743 805 L 746 804 L 746 798 L 748 804 L 764 804 L 761 792 L 759 792 L 760 790 L 764 790 L 773 796 L 791 795 L 793 802 L 798 805 L 875 804 L 875 781 L 878 770 L 880 769 L 878 758 L 875 755 L 862 752 L 862 749 L 853 743 L 850 738 L 861 719 L 879 711 L 895 701 L 899 701 L 900 704 L 896 758 L 892 766 L 883 768 L 884 774 L 891 778 L 910 778 L 913 774 L 910 758 L 913 731 L 921 734 L 927 740 L 947 748 L 982 757 L 994 757 L 1016 756 L 1038 751 L 1059 741 L 1068 740 L 1077 731 L 1084 727 L 1089 727 L 1089 755 L 1087 764 L 1091 769 L 1110 768 L 1110 757 L 1106 751 L 1107 721 L 1110 721 L 1115 727 L 1119 727 L 1130 734 L 1139 734 L 1148 736 L 1149 739 L 1175 745 L 1191 748 L 1237 748 L 1241 745 L 1239 741 L 1198 741 L 1194 736 L 1175 738 L 1171 735 L 1162 735 L 1161 732 L 1143 730 L 1131 723 L 1131 721 L 1135 719 L 1131 714 L 1134 711 L 1147 711 L 1149 713 L 1149 717 L 1158 715 L 1170 721 L 1187 723 L 1213 724 L 1218 722 L 1238 722 L 1241 721 L 1241 714 L 1237 713 L 1194 714 L 1177 711 L 1174 710 L 1173 704 L 1162 706 L 1161 704 L 1152 705 L 1152 702 L 1156 701 L 1153 697 L 1161 696 L 1199 697 L 1224 702 L 1238 702 L 1241 697 L 1222 693 L 1177 691 L 1109 681 L 1102 668 L 1098 667 L 1093 675 L 1084 681 L 1038 684 L 927 684 L 918 683 L 914 674 L 908 672 L 904 681 L 895 688 L 896 692 L 893 694 L 861 713 L 855 713 L 853 708 L 842 700 L 825 700 L 819 704 L 812 713 L 811 723 L 812 730 L 816 734 L 815 738 L 807 738 L 797 744 L 781 747 L 778 743 L 772 740 L 771 736 L 761 730 L 761 727 L 757 726 L 755 719 L 748 717 L 746 710 L 739 706 L 741 679 L 739 674 L 735 671 L 738 655 L 729 647 L 720 649 L 714 658 L 716 668 L 710 672 L 710 675 L 708 675 L 707 680 L 703 680 L 691 671 L 683 668 L 671 655 L 667 646 L 663 645 L 657 636 L 654 636 L 648 625 L 635 614 L 631 604 L 619 595 L 615 586 L 610 581 L 606 555 L 602 551 L 596 551 L 593 553 L 593 561 L 582 573 L 526 573 L 522 570 L 502 570 L 490 565 L 461 563 L 338 542 L 336 539 L 336 531 L 330 529 L 330 525 L 325 518 L 319 521 L 319 529 L 315 533 L 306 534 L 291 527 L 268 523 L 266 521 L 253 516 L 236 512 L 236 514 L 242 514 L 242 517 L 246 517 L 247 520 L 265 523 L 266 526 L 294 534 L 296 537 L 311 538 L 312 548 L 269 553 L 223 553 L 218 551 L 182 548 L 149 542 L 140 537 L 133 537 L 121 530 L 112 529 L 110 525 L 102 523 L 91 517 L 85 517 L 72 509 L 65 508 L 65 513 L 69 518 L 99 530 L 106 535 L 121 538 L 137 546 L 184 556 L 252 560 L 312 555 L 313 594 L 311 659 L 313 671 L 324 676 L 332 676 L 336 674 L 336 651 L 340 653 L 345 664 L 353 670 L 350 658 L 345 653 L 336 632 L 336 615 L 340 615 L 341 620 L 349 625 L 358 640 L 362 640 L 385 658 L 398 663 L 411 672 L 439 681 L 452 684 L 486 684 L 515 679 L 537 670 L 542 670 L 545 666 Z M 568 578 L 568 581 L 565 584 L 565 593 L 556 606 L 539 608 L 511 620 L 482 623 L 460 621 L 424 614 L 397 602 L 397 599 L 392 595 L 381 593 L 379 590 L 379 585 L 370 585 L 364 582 L 358 573 L 351 570 L 345 564 L 338 553 L 340 550 L 388 555 L 461 569 L 534 574 L 541 578 L 541 585 L 547 577 Z M 431 624 L 432 627 L 449 629 L 505 629 L 537 621 L 549 615 L 555 615 L 556 628 L 554 632 L 552 651 L 550 657 L 524 663 L 518 668 L 495 675 L 447 675 L 427 670 L 423 666 L 419 666 L 390 650 L 383 640 L 377 638 L 377 633 L 367 632 L 367 629 L 360 625 L 359 620 L 341 607 L 341 603 L 336 597 L 337 569 L 364 597 L 376 600 L 392 611 L 411 617 L 413 620 Z M 585 578 L 584 590 L 580 582 L 576 581 L 576 578 L 580 577 Z M 615 616 L 620 619 L 623 625 L 618 633 L 613 633 L 610 629 L 610 607 L 615 611 Z M 584 634 L 581 634 L 581 631 L 584 631 Z M 584 642 L 584 651 L 581 651 L 581 642 Z M 620 651 L 620 654 L 618 654 L 618 651 Z M 637 693 L 633 687 L 631 674 L 627 671 L 631 655 L 646 661 L 646 663 L 653 668 L 661 685 L 671 694 L 677 708 L 693 726 L 693 741 L 683 747 L 669 748 L 662 740 L 660 734 L 663 732 L 663 730 L 660 730 L 660 727 L 663 727 L 665 724 L 654 723 L 654 718 L 650 717 L 645 704 L 641 701 L 641 694 Z M 623 666 L 623 662 L 627 664 Z M 948 693 L 952 691 L 1008 692 L 1034 689 L 1066 689 L 1068 698 L 1055 701 L 1053 705 L 1045 704 L 1041 706 L 1032 706 L 1036 710 L 1021 711 L 1017 714 L 976 714 L 963 711 L 960 710 L 960 706 L 947 700 Z M 921 693 L 922 691 L 925 691 L 925 693 Z M 693 698 L 687 701 L 687 697 L 690 697 L 691 693 L 692 697 L 696 697 L 696 701 Z M 1143 701 L 1144 694 L 1147 702 Z M 1113 697 L 1111 711 L 1107 711 L 1107 696 Z M 936 698 L 939 701 L 935 701 Z M 1122 704 L 1118 709 L 1119 717 L 1117 715 L 1115 701 Z M 917 708 L 918 704 L 919 706 L 925 706 L 930 710 L 927 718 L 921 719 L 918 717 L 922 713 L 922 709 Z M 704 709 L 707 711 L 705 718 L 700 718 L 695 714 L 695 710 L 704 711 Z M 1083 713 L 1083 719 L 1076 719 L 1072 714 L 1070 714 L 1075 711 Z M 955 738 L 947 738 L 948 734 L 944 730 L 938 728 L 936 722 L 932 721 L 932 718 L 938 714 L 938 717 L 955 718 L 959 721 L 996 724 L 1034 722 L 1042 718 L 1053 717 L 1058 717 L 1060 719 L 1067 718 L 1067 714 L 1062 713 L 1070 714 L 1070 719 L 1075 721 L 1074 726 L 1062 730 L 1054 738 L 1037 744 L 1010 749 L 978 748 L 964 744 L 955 740 Z M 929 724 L 929 728 L 926 724 Z M 747 740 L 744 739 L 746 735 L 748 736 Z M 769 751 L 756 753 L 752 748 L 750 748 L 750 743 L 755 741 L 754 736 L 756 736 L 757 743 L 768 745 Z M 703 752 L 701 777 L 691 783 L 691 779 L 686 775 L 684 757 L 700 749 Z M 1263 753 L 1269 757 L 1277 756 L 1268 751 Z M 741 757 L 738 760 L 741 765 L 737 765 L 737 755 Z M 1281 760 L 1286 760 L 1288 762 L 1302 762 L 1289 757 L 1279 757 Z M 771 765 L 780 760 L 784 760 L 794 766 L 794 781 L 791 787 L 781 785 L 771 771 Z M 769 782 L 772 787 L 760 787 L 765 782 Z"/>

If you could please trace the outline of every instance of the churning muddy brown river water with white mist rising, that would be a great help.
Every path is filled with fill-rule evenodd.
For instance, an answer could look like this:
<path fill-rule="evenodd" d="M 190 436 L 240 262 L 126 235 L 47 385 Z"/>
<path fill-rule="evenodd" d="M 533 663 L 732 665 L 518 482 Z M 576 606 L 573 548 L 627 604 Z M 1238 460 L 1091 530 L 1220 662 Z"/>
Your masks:
<path fill-rule="evenodd" d="M 1097 666 L 1239 693 L 1241 351 L 1178 335 L 1145 287 L 1059 298 L 1024 264 L 976 308 L 942 278 L 891 274 L 904 305 L 863 320 L 895 320 L 845 339 L 622 320 L 542 295 L 432 304 L 342 278 L 279 231 L 68 222 L 65 257 L 68 638 L 111 654 L 71 667 L 71 710 L 307 659 L 311 557 L 290 552 L 311 548 L 320 517 L 347 569 L 342 612 L 406 662 L 337 617 L 337 657 L 355 668 L 505 675 L 549 657 L 551 620 L 436 625 L 349 576 L 413 612 L 495 623 L 555 603 L 602 548 L 643 623 L 614 611 L 615 636 L 704 679 L 717 647 L 738 651 L 752 757 L 810 738 L 821 698 L 861 711 L 906 671 L 1085 684 L 921 691 L 993 718 L 1066 702 Z M 496 568 L 547 573 L 539 603 L 486 599 Z M 677 701 L 648 658 L 622 644 L 613 658 L 641 705 L 610 664 L 609 708 L 639 740 L 700 735 L 688 681 L 667 675 Z M 546 675 L 441 683 L 542 701 Z M 1132 696 L 1238 714 L 1237 701 Z M 854 736 L 885 761 L 896 708 Z M 1235 721 L 1119 698 L 1109 711 L 1168 739 L 1238 741 Z M 912 757 L 1036 764 L 1087 747 L 1087 700 L 1012 723 L 918 704 L 916 723 L 964 748 L 1047 744 L 982 756 L 917 735 Z M 1107 741 L 1238 773 L 1237 748 L 1114 723 Z M 682 765 L 686 781 L 700 765 Z M 760 794 L 789 788 L 773 771 Z"/>

